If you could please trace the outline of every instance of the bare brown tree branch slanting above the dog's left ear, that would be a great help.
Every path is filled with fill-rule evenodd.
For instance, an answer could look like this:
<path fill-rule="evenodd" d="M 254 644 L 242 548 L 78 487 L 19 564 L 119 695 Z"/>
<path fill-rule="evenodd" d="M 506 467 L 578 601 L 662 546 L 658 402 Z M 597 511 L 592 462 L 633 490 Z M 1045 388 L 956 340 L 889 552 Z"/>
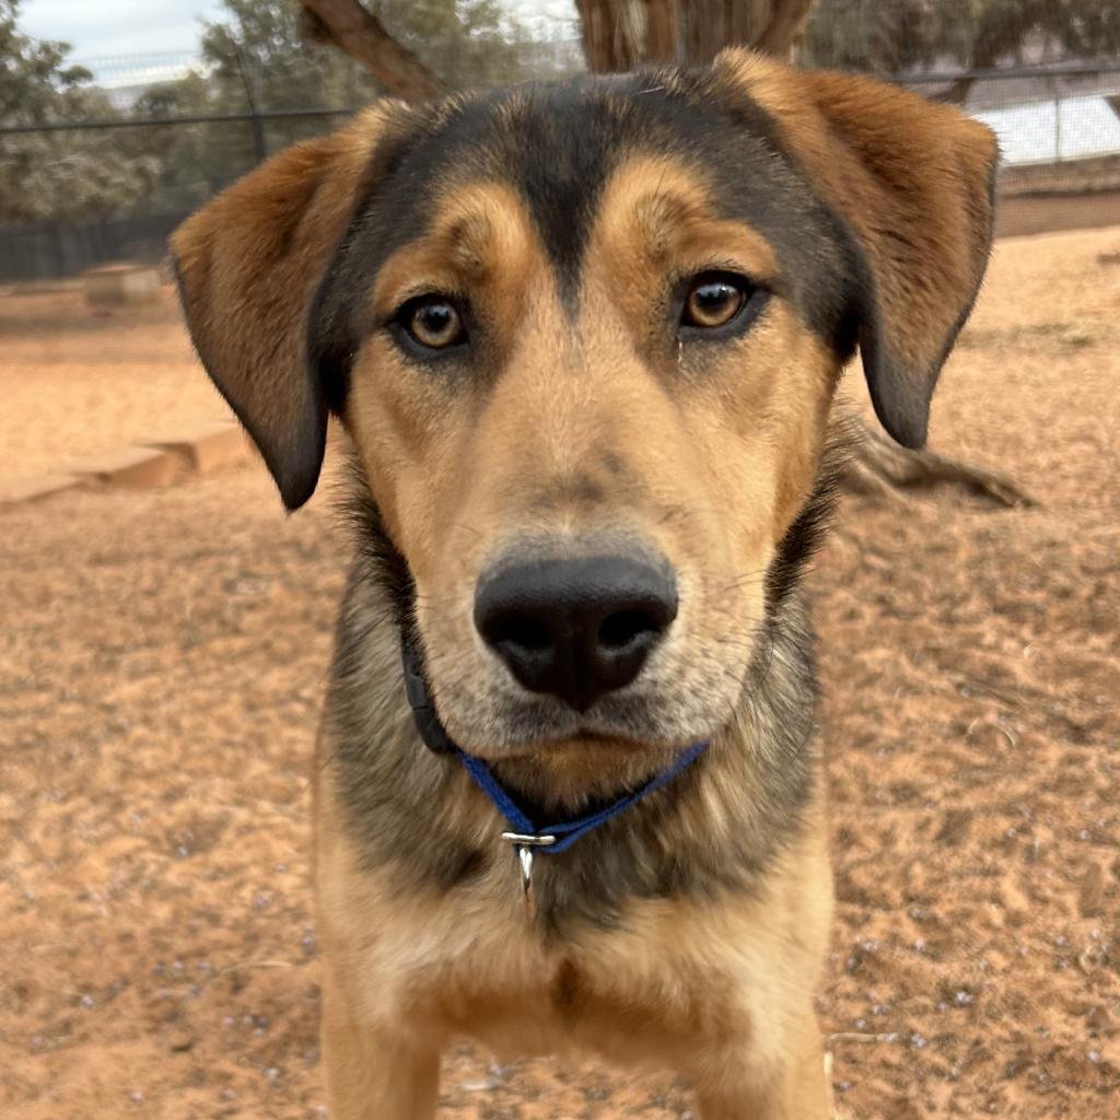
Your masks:
<path fill-rule="evenodd" d="M 357 0 L 300 0 L 304 30 L 361 63 L 398 97 L 424 101 L 447 86 L 411 50 L 402 47 Z"/>

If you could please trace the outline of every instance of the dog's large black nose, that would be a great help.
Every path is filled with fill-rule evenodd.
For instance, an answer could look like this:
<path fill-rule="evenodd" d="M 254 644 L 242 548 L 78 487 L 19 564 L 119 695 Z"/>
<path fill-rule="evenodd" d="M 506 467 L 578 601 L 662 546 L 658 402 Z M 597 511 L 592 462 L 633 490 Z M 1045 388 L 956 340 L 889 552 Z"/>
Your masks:
<path fill-rule="evenodd" d="M 629 557 L 534 560 L 475 594 L 475 626 L 519 683 L 577 711 L 629 684 L 675 617 L 671 572 Z"/>

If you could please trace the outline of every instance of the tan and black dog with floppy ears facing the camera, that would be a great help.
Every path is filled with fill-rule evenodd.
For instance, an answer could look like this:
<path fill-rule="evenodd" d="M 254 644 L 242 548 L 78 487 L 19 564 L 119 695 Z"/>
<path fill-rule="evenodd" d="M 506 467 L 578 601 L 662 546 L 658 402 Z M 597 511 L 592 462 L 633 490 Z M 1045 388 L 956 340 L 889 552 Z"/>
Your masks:
<path fill-rule="evenodd" d="M 330 414 L 353 444 L 315 830 L 335 1120 L 432 1117 L 463 1035 L 675 1071 L 704 1120 L 827 1116 L 799 580 L 857 345 L 924 440 L 996 156 L 954 109 L 728 52 L 384 102 L 176 233 L 287 506 Z M 468 760 L 535 822 L 672 780 L 541 848 L 526 906 Z"/>

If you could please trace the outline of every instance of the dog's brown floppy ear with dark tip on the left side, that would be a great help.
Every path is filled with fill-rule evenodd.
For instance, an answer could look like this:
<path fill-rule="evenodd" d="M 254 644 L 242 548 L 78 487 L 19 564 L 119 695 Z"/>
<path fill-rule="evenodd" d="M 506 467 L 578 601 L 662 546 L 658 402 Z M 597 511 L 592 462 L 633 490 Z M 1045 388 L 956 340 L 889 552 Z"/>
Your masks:
<path fill-rule="evenodd" d="M 345 233 L 382 112 L 270 159 L 171 235 L 198 356 L 264 457 L 284 505 L 314 493 L 327 401 L 307 314 Z"/>

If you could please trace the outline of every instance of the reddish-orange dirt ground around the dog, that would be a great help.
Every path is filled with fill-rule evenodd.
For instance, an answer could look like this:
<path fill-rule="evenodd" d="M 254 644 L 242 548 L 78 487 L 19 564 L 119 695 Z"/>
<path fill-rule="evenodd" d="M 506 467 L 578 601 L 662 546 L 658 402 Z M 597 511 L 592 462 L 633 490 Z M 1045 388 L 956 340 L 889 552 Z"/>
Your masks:
<path fill-rule="evenodd" d="M 0 304 L 6 473 L 221 412 L 169 308 L 37 298 Z M 1001 242 L 933 442 L 1042 504 L 850 498 L 818 564 L 846 1117 L 1120 1114 L 1118 432 L 1120 227 Z M 308 764 L 344 552 L 256 467 L 0 510 L 6 1120 L 325 1114 Z M 464 1047 L 440 1116 L 690 1113 Z"/>

